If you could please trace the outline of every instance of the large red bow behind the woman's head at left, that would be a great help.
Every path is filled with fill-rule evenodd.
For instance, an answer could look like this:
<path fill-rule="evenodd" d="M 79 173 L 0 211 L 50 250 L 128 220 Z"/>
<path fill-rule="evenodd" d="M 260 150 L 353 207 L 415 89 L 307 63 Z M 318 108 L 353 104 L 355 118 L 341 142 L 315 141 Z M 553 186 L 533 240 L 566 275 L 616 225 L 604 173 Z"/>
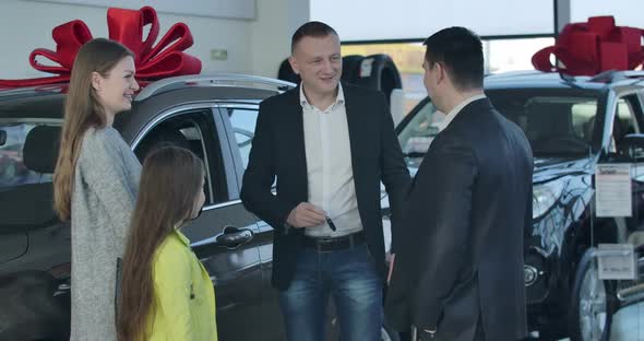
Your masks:
<path fill-rule="evenodd" d="M 136 79 L 153 81 L 170 75 L 196 74 L 201 72 L 201 61 L 183 52 L 192 46 L 192 34 L 183 23 L 170 27 L 166 35 L 156 44 L 159 33 L 156 11 L 144 7 L 139 11 L 110 8 L 107 11 L 109 38 L 117 40 L 134 52 Z M 150 33 L 143 39 L 143 27 L 150 25 Z M 74 20 L 57 26 L 52 31 L 56 51 L 37 48 L 29 55 L 29 63 L 36 70 L 58 75 L 23 79 L 0 80 L 0 86 L 33 86 L 68 82 L 76 54 L 83 44 L 90 42 L 92 33 L 81 20 Z M 58 66 L 46 66 L 38 60 L 46 57 Z"/>

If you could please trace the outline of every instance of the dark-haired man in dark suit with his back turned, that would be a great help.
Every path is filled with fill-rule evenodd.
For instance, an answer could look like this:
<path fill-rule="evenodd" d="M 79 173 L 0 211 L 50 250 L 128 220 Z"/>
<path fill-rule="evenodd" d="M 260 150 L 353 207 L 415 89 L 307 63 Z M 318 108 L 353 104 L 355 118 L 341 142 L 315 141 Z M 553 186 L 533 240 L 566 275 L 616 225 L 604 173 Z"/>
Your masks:
<path fill-rule="evenodd" d="M 449 114 L 405 204 L 387 318 L 418 340 L 520 340 L 527 333 L 532 150 L 484 94 L 474 33 L 445 28 L 425 45 L 425 86 Z"/>

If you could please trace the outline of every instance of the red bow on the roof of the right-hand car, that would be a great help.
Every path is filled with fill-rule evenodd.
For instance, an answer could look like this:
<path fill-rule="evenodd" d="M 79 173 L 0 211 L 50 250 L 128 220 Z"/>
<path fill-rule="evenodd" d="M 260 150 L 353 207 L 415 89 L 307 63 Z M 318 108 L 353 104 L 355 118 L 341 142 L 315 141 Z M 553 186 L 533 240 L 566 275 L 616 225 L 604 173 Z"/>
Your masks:
<path fill-rule="evenodd" d="M 633 70 L 644 62 L 644 30 L 616 26 L 612 16 L 593 16 L 587 23 L 568 24 L 554 46 L 533 56 L 535 69 L 570 75 L 594 75 L 608 70 Z M 563 66 L 553 66 L 554 55 Z"/>

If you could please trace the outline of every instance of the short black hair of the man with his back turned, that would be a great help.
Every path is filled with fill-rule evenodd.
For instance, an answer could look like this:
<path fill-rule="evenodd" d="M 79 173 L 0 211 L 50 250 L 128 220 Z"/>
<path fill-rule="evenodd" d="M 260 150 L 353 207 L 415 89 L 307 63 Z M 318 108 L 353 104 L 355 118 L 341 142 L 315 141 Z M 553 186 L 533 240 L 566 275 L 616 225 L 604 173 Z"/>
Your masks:
<path fill-rule="evenodd" d="M 425 39 L 425 59 L 431 68 L 440 62 L 458 90 L 482 87 L 482 44 L 474 32 L 465 27 L 449 27 Z"/>

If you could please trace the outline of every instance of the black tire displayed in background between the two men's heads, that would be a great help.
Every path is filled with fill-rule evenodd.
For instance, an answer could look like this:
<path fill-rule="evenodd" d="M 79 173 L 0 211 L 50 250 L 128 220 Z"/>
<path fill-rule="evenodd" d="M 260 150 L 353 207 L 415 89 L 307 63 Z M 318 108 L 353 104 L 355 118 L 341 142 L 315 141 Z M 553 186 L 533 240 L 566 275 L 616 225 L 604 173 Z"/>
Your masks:
<path fill-rule="evenodd" d="M 369 63 L 371 63 L 370 70 Z M 366 73 L 362 73 L 362 71 L 366 71 Z M 380 54 L 366 57 L 360 62 L 357 72 L 358 78 L 355 84 L 383 92 L 387 103 L 393 90 L 403 87 L 401 73 L 387 55 Z"/>

